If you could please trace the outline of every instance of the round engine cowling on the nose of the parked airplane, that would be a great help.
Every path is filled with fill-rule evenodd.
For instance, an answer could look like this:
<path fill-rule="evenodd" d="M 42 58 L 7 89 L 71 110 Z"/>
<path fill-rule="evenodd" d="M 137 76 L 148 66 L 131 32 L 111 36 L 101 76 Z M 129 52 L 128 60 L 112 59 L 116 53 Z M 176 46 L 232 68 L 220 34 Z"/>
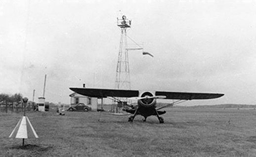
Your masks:
<path fill-rule="evenodd" d="M 143 92 L 140 95 L 140 97 L 145 97 L 145 98 L 138 100 L 138 105 L 140 105 L 142 107 L 146 107 L 146 108 L 156 105 L 156 99 L 147 98 L 147 97 L 153 97 L 153 96 L 155 96 L 155 95 L 152 92 L 149 92 L 149 91 Z"/>

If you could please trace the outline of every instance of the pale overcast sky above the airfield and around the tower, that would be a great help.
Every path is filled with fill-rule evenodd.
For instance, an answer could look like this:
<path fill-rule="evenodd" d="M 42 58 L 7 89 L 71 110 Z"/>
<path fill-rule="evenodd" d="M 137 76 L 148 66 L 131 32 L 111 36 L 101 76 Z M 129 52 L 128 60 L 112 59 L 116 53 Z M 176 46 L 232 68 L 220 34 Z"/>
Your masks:
<path fill-rule="evenodd" d="M 121 12 L 120 12 L 121 10 Z M 114 88 L 121 31 L 132 89 L 220 92 L 196 104 L 256 103 L 255 0 L 1 0 L 0 93 L 69 103 L 69 87 Z M 133 43 L 128 39 L 128 43 Z"/>

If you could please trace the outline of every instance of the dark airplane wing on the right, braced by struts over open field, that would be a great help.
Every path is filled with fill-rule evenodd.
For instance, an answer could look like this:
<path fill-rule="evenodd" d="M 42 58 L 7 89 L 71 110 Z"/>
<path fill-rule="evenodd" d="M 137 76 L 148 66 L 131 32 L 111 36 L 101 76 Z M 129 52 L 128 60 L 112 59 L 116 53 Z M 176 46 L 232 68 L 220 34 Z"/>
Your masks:
<path fill-rule="evenodd" d="M 200 99 L 219 98 L 219 97 L 223 96 L 224 94 L 156 91 L 156 96 L 158 96 L 158 95 L 166 96 L 166 99 L 200 100 Z"/>

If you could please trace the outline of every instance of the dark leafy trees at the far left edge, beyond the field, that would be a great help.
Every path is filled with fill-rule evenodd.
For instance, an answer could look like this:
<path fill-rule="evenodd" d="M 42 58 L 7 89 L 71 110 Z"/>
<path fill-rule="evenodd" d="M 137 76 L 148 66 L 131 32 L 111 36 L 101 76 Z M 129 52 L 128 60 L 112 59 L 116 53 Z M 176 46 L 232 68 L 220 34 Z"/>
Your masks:
<path fill-rule="evenodd" d="M 21 93 L 15 93 L 14 95 L 0 93 L 0 104 L 8 104 L 8 103 L 19 103 L 22 100 Z"/>

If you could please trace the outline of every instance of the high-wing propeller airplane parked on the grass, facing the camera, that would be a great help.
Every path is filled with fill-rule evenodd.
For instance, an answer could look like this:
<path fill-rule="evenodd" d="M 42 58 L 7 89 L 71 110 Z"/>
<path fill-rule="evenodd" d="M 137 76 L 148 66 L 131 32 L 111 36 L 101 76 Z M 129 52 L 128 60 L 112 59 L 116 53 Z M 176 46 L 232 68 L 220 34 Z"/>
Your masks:
<path fill-rule="evenodd" d="M 163 115 L 166 111 L 159 111 L 163 108 L 170 107 L 187 100 L 202 100 L 202 99 L 214 99 L 223 96 L 220 93 L 190 93 L 190 92 L 171 92 L 171 91 L 139 91 L 139 90 L 125 90 L 125 89 L 100 89 L 100 88 L 74 88 L 70 87 L 70 90 L 85 96 L 101 98 L 113 98 L 118 100 L 117 97 L 128 98 L 131 100 L 137 100 L 136 108 L 124 108 L 123 110 L 133 114 L 128 118 L 128 121 L 132 122 L 135 116 L 141 115 L 144 117 L 143 121 L 146 121 L 149 116 L 157 116 L 160 123 L 164 123 L 164 118 L 159 115 Z M 157 99 L 174 99 L 173 103 L 167 104 L 163 107 L 157 108 Z M 121 101 L 120 101 L 121 102 Z"/>

